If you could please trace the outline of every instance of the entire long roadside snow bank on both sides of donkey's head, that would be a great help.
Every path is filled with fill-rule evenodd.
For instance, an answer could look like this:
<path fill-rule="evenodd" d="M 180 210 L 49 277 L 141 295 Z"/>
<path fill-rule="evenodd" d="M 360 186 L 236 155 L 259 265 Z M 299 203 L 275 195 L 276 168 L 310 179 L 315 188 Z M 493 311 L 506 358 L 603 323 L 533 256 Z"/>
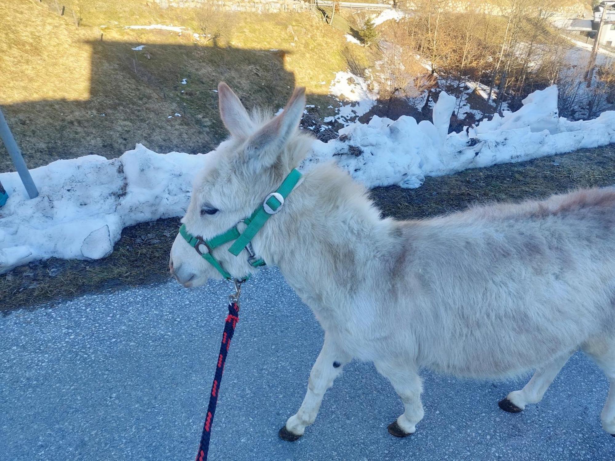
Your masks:
<path fill-rule="evenodd" d="M 373 117 L 314 141 L 302 168 L 335 160 L 367 187 L 419 187 L 426 176 L 521 162 L 615 142 L 615 111 L 571 122 L 558 116 L 557 89 L 523 100 L 517 112 L 448 133 L 455 98 L 440 93 L 433 122 Z M 141 144 L 119 159 L 85 156 L 31 171 L 40 195 L 28 200 L 17 173 L 1 173 L 9 193 L 0 208 L 0 273 L 34 259 L 103 258 L 122 228 L 181 216 L 196 171 L 212 154 L 156 154 Z"/>

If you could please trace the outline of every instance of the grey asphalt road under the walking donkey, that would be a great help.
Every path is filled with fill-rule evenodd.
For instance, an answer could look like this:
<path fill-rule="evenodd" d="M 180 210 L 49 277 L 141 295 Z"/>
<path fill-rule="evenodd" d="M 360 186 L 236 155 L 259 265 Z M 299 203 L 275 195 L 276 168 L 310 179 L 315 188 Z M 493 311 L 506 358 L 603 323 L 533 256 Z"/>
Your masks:
<path fill-rule="evenodd" d="M 193 460 L 229 286 L 177 283 L 88 295 L 0 318 L 0 460 Z M 295 443 L 277 431 L 301 404 L 322 342 L 274 269 L 244 286 L 210 460 L 613 460 L 600 428 L 607 382 L 577 353 L 544 400 L 507 414 L 527 377 L 424 373 L 426 416 L 405 439 L 402 403 L 372 364 L 347 365 Z"/>

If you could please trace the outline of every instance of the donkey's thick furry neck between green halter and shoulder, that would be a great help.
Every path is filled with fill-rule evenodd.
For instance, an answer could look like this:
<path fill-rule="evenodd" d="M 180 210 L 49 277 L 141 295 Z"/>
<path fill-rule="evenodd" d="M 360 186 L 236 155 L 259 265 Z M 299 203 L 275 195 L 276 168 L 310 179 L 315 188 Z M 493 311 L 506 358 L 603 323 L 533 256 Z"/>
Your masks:
<path fill-rule="evenodd" d="M 280 268 L 319 320 L 317 310 L 335 309 L 343 296 L 368 290 L 360 275 L 366 265 L 379 270 L 397 247 L 394 222 L 381 219 L 365 188 L 333 165 L 306 173 L 284 207 L 255 238 L 255 250 Z"/>

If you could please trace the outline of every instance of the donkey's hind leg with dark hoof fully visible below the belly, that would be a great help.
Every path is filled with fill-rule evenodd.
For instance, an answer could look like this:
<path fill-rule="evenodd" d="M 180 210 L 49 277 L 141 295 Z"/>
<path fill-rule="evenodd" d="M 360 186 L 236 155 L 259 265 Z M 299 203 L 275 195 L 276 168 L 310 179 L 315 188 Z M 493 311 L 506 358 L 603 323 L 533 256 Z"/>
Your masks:
<path fill-rule="evenodd" d="M 499 408 L 509 413 L 518 413 L 525 409 L 526 404 L 541 401 L 547 388 L 570 356 L 571 353 L 560 355 L 536 370 L 534 376 L 522 390 L 515 390 L 498 402 Z"/>

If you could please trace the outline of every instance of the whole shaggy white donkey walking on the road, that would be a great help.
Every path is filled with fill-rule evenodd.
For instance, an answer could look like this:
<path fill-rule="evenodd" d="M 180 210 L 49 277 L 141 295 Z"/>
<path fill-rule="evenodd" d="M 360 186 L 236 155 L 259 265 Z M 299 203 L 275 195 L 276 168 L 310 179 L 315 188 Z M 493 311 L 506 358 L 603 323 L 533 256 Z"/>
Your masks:
<path fill-rule="evenodd" d="M 209 154 L 183 218 L 205 239 L 262 208 L 312 142 L 298 132 L 304 89 L 271 120 L 248 116 L 226 84 L 218 91 L 231 137 Z M 405 411 L 389 432 L 406 436 L 424 414 L 419 368 L 482 379 L 537 369 L 499 403 L 518 412 L 541 400 L 579 348 L 609 379 L 601 421 L 615 436 L 613 189 L 395 221 L 382 219 L 365 188 L 333 164 L 303 179 L 252 239 L 256 255 L 279 266 L 325 330 L 308 391 L 282 438 L 303 435 L 352 358 L 373 361 L 391 381 Z M 247 251 L 237 258 L 228 245 L 213 250 L 216 261 L 232 277 L 253 272 Z M 220 278 L 181 235 L 170 269 L 186 287 Z"/>

